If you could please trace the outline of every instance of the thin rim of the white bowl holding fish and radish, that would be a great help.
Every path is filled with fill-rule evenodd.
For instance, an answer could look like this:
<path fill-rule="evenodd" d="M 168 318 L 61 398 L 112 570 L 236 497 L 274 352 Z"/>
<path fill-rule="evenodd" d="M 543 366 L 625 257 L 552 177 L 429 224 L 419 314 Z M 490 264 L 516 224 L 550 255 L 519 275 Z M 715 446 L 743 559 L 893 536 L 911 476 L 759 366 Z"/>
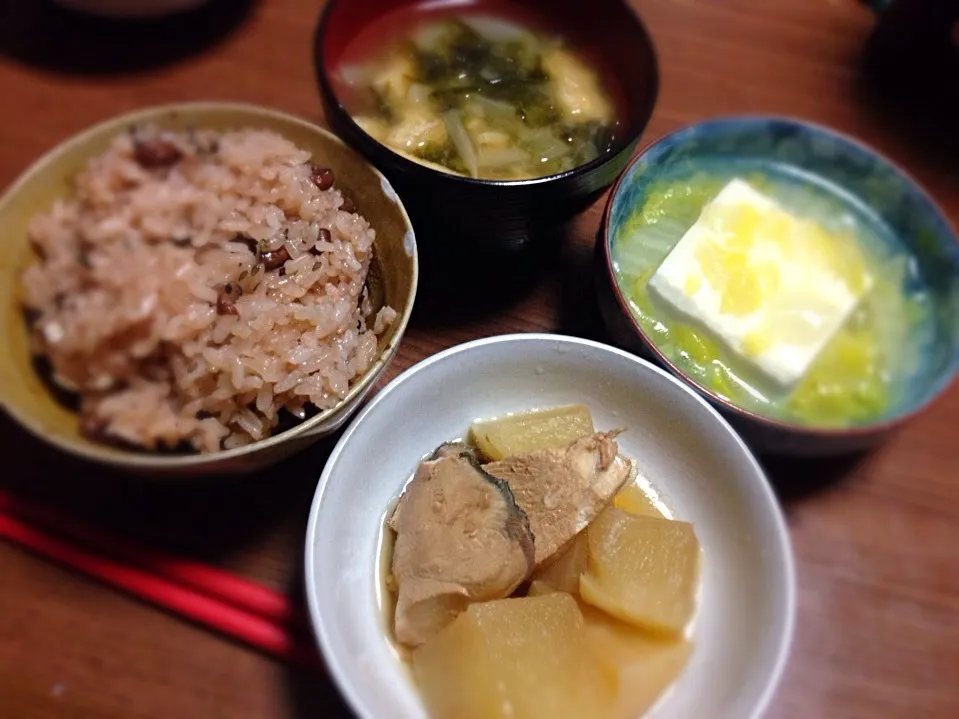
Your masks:
<path fill-rule="evenodd" d="M 733 442 L 738 447 L 739 451 L 746 457 L 752 468 L 752 476 L 758 480 L 754 482 L 756 491 L 764 502 L 765 510 L 770 515 L 770 519 L 772 520 L 773 534 L 775 535 L 775 539 L 778 540 L 776 548 L 779 550 L 779 556 L 777 557 L 777 560 L 783 567 L 784 576 L 784 621 L 779 627 L 779 636 L 776 640 L 776 659 L 767 676 L 766 684 L 763 687 L 760 695 L 757 697 L 756 703 L 750 714 L 750 719 L 759 719 L 762 717 L 771 703 L 772 698 L 782 680 L 786 665 L 788 664 L 789 655 L 792 651 L 793 640 L 795 637 L 797 607 L 796 561 L 792 540 L 789 534 L 789 527 L 786 523 L 786 518 L 782 507 L 780 506 L 773 490 L 772 483 L 766 476 L 765 470 L 763 470 L 762 465 L 756 459 L 755 455 L 752 453 L 752 450 L 750 450 L 749 446 L 745 443 L 739 433 L 733 429 L 726 418 L 723 417 L 715 407 L 710 405 L 709 402 L 699 395 L 692 387 L 689 387 L 666 370 L 662 369 L 661 367 L 657 367 L 652 362 L 642 359 L 641 357 L 637 357 L 630 352 L 604 344 L 602 342 L 596 342 L 595 340 L 588 340 L 581 337 L 551 334 L 547 332 L 514 333 L 484 337 L 481 339 L 464 342 L 462 344 L 453 345 L 452 347 L 448 347 L 441 352 L 437 352 L 436 354 L 417 362 L 390 381 L 390 383 L 387 384 L 386 387 L 384 387 L 380 392 L 378 392 L 377 395 L 352 419 L 346 431 L 341 435 L 340 439 L 336 443 L 336 446 L 333 448 L 333 451 L 327 458 L 326 465 L 323 467 L 323 472 L 320 474 L 320 479 L 313 495 L 313 501 L 310 504 L 303 566 L 310 626 L 313 629 L 314 638 L 316 639 L 323 653 L 326 667 L 336 681 L 340 692 L 346 697 L 347 701 L 355 712 L 364 717 L 364 719 L 369 716 L 363 713 L 364 705 L 362 701 L 362 692 L 359 690 L 358 685 L 343 668 L 339 661 L 339 657 L 330 651 L 331 641 L 327 630 L 327 620 L 329 620 L 329 623 L 332 623 L 335 618 L 326 617 L 325 614 L 320 610 L 319 582 L 317 581 L 317 577 L 315 576 L 313 570 L 316 555 L 316 542 L 314 541 L 314 538 L 316 536 L 317 526 L 319 523 L 320 507 L 323 504 L 326 489 L 330 484 L 330 480 L 334 472 L 336 471 L 340 455 L 346 451 L 346 447 L 353 438 L 353 435 L 359 430 L 366 418 L 378 411 L 380 403 L 385 401 L 391 393 L 398 391 L 403 384 L 410 381 L 410 379 L 415 375 L 419 374 L 420 372 L 428 371 L 429 368 L 434 364 L 438 364 L 457 355 L 472 352 L 479 348 L 499 344 L 525 343 L 530 341 L 564 344 L 568 347 L 587 348 L 595 352 L 616 355 L 617 357 L 628 360 L 629 362 L 635 364 L 637 368 L 639 368 L 639 371 L 651 371 L 655 374 L 658 374 L 674 387 L 682 392 L 685 392 L 689 397 L 694 399 L 694 401 L 712 417 L 713 421 L 717 422 L 723 429 L 725 429 L 730 441 Z M 370 719 L 372 719 L 372 717 L 370 717 Z"/>

